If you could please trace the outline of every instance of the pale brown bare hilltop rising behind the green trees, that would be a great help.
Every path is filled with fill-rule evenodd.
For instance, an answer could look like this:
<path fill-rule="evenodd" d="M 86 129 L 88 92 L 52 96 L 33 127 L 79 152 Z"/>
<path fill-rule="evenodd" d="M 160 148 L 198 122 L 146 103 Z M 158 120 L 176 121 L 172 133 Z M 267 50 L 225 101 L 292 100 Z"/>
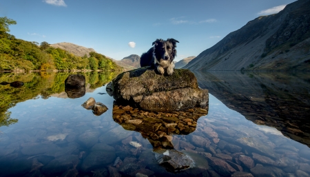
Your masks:
<path fill-rule="evenodd" d="M 54 43 L 50 44 L 50 46 L 53 48 L 61 48 L 62 50 L 66 50 L 76 56 L 84 56 L 86 54 L 87 57 L 90 57 L 90 52 L 96 52 L 92 48 L 85 48 L 74 43 Z"/>

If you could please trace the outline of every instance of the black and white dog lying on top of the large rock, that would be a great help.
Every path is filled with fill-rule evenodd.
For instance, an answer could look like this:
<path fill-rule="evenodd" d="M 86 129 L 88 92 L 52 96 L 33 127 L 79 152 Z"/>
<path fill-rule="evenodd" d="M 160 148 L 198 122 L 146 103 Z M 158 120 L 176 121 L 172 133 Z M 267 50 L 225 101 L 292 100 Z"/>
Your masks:
<path fill-rule="evenodd" d="M 174 73 L 174 58 L 176 57 L 176 39 L 156 39 L 149 51 L 143 53 L 140 59 L 141 67 L 153 66 L 161 74 L 167 71 L 168 75 Z"/>

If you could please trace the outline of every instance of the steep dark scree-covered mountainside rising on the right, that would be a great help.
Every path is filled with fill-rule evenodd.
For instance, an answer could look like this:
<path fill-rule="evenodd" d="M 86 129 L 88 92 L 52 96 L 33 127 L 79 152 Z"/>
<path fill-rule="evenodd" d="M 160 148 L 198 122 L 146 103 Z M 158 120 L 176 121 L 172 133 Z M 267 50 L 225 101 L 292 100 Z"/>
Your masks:
<path fill-rule="evenodd" d="M 310 71 L 310 0 L 258 17 L 201 52 L 189 70 Z"/>

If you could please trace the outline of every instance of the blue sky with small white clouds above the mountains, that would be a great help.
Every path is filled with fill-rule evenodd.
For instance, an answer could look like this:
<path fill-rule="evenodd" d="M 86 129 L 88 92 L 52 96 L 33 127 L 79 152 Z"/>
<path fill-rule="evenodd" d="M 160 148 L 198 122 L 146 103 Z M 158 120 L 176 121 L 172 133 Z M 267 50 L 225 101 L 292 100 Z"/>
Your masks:
<path fill-rule="evenodd" d="M 121 60 L 173 38 L 175 61 L 198 56 L 230 32 L 294 0 L 0 0 L 0 17 L 17 21 L 25 41 L 68 42 Z"/>

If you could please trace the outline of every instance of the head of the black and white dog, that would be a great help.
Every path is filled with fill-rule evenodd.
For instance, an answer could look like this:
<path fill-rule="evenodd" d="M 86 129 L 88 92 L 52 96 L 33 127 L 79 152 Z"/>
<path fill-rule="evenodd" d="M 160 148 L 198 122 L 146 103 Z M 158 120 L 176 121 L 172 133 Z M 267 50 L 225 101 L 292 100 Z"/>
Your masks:
<path fill-rule="evenodd" d="M 154 45 L 154 54 L 158 61 L 170 61 L 170 63 L 176 57 L 176 39 L 167 39 L 164 41 L 163 39 L 156 39 L 152 43 Z"/>

